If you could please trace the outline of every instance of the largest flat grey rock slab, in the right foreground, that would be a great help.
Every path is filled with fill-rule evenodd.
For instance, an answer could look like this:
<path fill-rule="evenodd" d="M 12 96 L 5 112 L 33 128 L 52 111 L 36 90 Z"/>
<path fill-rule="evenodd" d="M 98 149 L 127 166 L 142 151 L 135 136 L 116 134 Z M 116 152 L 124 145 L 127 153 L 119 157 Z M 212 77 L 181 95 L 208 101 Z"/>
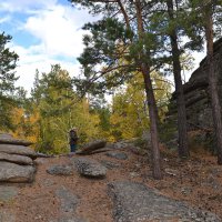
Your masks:
<path fill-rule="evenodd" d="M 115 222 L 171 221 L 173 219 L 181 222 L 221 221 L 213 213 L 191 209 L 183 202 L 155 193 L 142 183 L 113 182 L 108 185 L 108 192 L 113 200 Z"/>

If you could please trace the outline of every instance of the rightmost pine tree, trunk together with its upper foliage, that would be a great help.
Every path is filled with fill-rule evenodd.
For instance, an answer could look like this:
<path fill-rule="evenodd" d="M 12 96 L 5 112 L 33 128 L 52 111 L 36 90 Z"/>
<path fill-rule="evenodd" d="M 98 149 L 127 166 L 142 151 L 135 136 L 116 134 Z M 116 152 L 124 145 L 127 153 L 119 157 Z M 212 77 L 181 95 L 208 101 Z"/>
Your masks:
<path fill-rule="evenodd" d="M 213 40 L 221 37 L 221 0 L 190 0 L 190 7 L 194 14 L 199 14 L 198 22 L 202 26 L 206 41 L 208 79 L 211 97 L 212 117 L 216 135 L 218 163 L 222 164 L 222 114 L 218 92 L 218 71 L 213 62 Z M 214 30 L 215 27 L 215 30 Z"/>

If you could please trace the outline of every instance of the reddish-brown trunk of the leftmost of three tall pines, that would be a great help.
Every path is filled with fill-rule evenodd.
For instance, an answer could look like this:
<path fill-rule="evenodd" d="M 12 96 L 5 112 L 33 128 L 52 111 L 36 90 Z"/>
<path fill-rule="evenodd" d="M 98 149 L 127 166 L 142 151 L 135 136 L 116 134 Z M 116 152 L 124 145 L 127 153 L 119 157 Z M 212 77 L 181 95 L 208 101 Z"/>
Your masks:
<path fill-rule="evenodd" d="M 138 20 L 138 32 L 139 32 L 139 40 L 142 40 L 142 36 L 144 33 L 143 29 L 143 20 L 142 20 L 142 12 L 141 12 L 141 2 L 140 0 L 135 0 L 135 11 L 137 11 L 137 20 Z M 139 52 L 139 59 L 143 59 L 144 53 Z M 152 88 L 152 81 L 150 77 L 150 67 L 145 64 L 145 62 L 140 62 L 141 72 L 143 74 L 147 100 L 148 100 L 148 108 L 149 108 L 149 115 L 150 115 L 150 134 L 151 134 L 151 149 L 152 149 L 152 173 L 153 178 L 157 180 L 162 179 L 161 172 L 161 161 L 160 161 L 160 149 L 159 149 L 159 135 L 158 135 L 158 118 L 157 118 L 157 104 L 155 98 Z"/>

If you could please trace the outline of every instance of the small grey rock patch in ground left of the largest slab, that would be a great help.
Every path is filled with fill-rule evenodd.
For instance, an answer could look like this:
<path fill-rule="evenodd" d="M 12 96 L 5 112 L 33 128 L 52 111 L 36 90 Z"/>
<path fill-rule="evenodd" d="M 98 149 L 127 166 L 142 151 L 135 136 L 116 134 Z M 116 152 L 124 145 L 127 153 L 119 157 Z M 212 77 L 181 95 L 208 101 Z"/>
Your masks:
<path fill-rule="evenodd" d="M 77 205 L 80 202 L 79 196 L 73 194 L 71 191 L 65 188 L 58 189 L 56 191 L 57 198 L 61 201 L 61 212 L 74 212 L 77 210 Z"/>

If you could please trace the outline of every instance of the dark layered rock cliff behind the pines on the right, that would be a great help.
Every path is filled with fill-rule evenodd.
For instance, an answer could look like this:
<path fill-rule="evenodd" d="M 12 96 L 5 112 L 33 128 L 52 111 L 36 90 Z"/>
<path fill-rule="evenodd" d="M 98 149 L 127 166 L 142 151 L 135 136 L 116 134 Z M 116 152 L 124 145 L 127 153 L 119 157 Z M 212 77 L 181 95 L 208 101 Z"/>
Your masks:
<path fill-rule="evenodd" d="M 222 107 L 222 38 L 214 42 L 214 71 L 218 75 L 219 98 Z M 212 130 L 212 110 L 209 94 L 208 64 L 204 58 L 200 67 L 192 73 L 189 82 L 183 85 L 189 130 Z M 176 113 L 176 94 L 173 93 L 169 108 L 170 115 Z"/>

